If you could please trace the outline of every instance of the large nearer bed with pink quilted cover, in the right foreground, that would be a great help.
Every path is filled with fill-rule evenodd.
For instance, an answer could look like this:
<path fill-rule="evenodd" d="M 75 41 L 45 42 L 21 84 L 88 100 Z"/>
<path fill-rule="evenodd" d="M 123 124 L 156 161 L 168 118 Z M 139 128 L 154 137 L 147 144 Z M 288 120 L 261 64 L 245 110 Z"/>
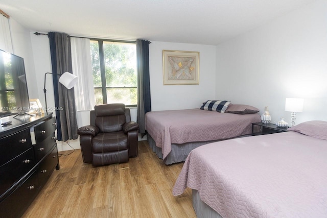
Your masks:
<path fill-rule="evenodd" d="M 192 188 L 198 217 L 326 217 L 326 157 L 318 120 L 206 144 L 185 160 L 173 195 Z"/>

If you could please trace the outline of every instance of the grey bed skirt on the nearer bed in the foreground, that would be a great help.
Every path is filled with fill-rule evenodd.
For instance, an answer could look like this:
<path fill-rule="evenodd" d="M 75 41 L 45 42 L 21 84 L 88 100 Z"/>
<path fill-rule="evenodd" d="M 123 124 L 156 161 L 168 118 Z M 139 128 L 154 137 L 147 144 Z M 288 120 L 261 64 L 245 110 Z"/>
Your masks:
<path fill-rule="evenodd" d="M 213 208 L 201 201 L 198 190 L 192 189 L 192 204 L 197 217 L 222 218 Z"/>

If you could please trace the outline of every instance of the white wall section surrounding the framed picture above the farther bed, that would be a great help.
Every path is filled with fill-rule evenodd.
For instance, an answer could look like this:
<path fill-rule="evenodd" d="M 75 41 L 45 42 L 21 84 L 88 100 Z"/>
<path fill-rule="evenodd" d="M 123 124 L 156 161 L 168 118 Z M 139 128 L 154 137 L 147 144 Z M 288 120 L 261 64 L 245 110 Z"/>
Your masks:
<path fill-rule="evenodd" d="M 199 108 L 215 98 L 216 46 L 151 41 L 149 44 L 151 109 Z M 200 52 L 199 85 L 164 85 L 162 50 Z"/>

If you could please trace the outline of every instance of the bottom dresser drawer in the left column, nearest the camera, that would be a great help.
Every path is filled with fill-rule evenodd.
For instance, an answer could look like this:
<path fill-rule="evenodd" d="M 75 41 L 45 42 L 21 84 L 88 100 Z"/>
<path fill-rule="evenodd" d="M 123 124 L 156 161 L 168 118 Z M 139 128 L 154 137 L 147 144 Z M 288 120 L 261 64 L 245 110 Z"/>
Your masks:
<path fill-rule="evenodd" d="M 38 186 L 37 173 L 34 172 L 0 202 L 0 217 L 20 217 L 37 196 Z"/>

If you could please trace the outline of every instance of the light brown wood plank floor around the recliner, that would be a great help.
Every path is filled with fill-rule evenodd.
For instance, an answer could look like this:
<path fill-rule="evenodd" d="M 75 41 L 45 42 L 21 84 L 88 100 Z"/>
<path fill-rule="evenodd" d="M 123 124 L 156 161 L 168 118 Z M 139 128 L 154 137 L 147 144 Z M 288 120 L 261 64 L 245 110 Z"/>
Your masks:
<path fill-rule="evenodd" d="M 183 163 L 163 164 L 147 141 L 128 163 L 92 167 L 80 150 L 59 161 L 23 217 L 196 217 L 191 189 L 172 195 Z"/>

